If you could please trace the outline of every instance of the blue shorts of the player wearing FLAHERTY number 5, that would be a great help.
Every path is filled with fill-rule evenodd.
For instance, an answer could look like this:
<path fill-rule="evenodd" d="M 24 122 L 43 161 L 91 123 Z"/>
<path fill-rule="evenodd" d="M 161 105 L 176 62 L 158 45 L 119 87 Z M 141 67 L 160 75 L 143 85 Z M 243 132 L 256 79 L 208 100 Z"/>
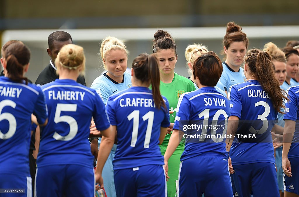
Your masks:
<path fill-rule="evenodd" d="M 95 195 L 93 168 L 73 164 L 37 167 L 35 176 L 35 194 L 38 197 Z"/>

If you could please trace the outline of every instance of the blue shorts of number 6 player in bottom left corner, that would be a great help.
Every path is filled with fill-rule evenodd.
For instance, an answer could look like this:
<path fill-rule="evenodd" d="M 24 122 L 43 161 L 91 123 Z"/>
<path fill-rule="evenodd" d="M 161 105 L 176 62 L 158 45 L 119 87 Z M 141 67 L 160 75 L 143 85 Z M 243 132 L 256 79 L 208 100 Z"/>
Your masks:
<path fill-rule="evenodd" d="M 20 176 L 12 174 L 0 173 L 0 188 L 1 189 L 20 189 L 24 190 L 24 193 L 5 193 L 0 197 L 32 197 L 32 185 L 30 176 Z"/>

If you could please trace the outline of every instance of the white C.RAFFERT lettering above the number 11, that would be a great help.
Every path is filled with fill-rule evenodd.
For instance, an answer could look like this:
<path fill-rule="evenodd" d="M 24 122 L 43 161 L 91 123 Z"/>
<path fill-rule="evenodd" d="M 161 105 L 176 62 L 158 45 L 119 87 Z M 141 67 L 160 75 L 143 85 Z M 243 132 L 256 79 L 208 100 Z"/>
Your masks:
<path fill-rule="evenodd" d="M 153 99 L 148 98 L 121 98 L 119 100 L 120 107 L 155 107 Z"/>

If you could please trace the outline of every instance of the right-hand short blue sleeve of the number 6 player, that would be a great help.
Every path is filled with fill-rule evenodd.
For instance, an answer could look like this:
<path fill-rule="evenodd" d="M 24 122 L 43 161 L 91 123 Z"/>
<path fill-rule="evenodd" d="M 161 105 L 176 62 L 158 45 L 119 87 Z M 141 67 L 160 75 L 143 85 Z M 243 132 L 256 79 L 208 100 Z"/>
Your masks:
<path fill-rule="evenodd" d="M 33 114 L 36 116 L 37 122 L 39 124 L 43 124 L 48 118 L 48 109 L 46 105 L 45 94 L 40 86 L 37 86 L 37 91 L 39 92 L 39 95 L 35 102 Z"/>

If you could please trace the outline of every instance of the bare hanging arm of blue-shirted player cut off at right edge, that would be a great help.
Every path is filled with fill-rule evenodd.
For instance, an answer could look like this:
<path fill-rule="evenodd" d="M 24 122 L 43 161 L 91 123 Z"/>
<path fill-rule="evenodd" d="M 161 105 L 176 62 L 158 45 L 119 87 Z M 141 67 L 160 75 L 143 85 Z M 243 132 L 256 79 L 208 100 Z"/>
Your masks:
<path fill-rule="evenodd" d="M 283 129 L 283 148 L 282 148 L 282 168 L 284 173 L 292 176 L 291 163 L 288 159 L 289 150 L 292 144 L 296 122 L 294 120 L 285 120 Z"/>

